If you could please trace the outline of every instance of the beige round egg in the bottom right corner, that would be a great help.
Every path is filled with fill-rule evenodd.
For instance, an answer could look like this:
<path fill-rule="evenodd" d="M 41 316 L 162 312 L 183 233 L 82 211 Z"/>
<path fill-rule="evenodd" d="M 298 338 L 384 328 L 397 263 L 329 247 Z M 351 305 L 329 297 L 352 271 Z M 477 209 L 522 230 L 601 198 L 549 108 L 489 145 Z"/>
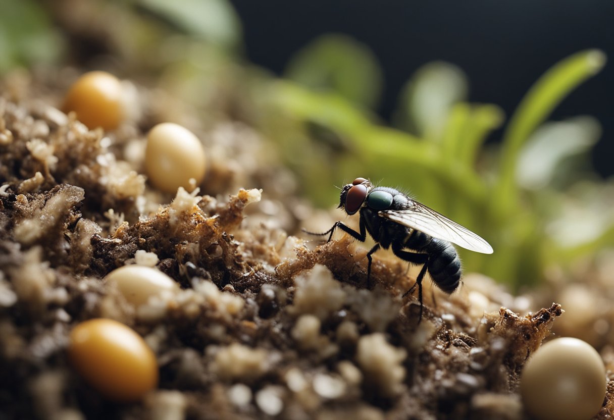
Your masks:
<path fill-rule="evenodd" d="M 605 397 L 605 367 L 585 341 L 564 337 L 543 344 L 524 365 L 520 391 L 538 420 L 588 420 Z"/>

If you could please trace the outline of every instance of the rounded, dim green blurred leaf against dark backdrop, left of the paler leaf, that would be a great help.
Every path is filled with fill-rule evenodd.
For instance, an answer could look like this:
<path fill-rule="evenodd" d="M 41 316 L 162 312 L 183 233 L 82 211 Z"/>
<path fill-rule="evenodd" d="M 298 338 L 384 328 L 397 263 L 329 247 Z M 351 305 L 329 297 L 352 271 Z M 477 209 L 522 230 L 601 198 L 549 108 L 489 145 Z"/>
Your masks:
<path fill-rule="evenodd" d="M 326 34 L 301 49 L 287 64 L 285 76 L 317 91 L 334 91 L 371 109 L 378 104 L 383 84 L 373 52 L 341 34 Z"/>

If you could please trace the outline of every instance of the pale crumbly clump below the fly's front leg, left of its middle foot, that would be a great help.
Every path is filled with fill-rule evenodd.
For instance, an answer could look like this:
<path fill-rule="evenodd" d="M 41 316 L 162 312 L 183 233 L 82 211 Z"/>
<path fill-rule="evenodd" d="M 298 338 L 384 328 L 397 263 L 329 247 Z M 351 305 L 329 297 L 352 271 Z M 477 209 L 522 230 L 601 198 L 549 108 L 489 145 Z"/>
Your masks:
<path fill-rule="evenodd" d="M 324 265 L 316 264 L 312 270 L 295 279 L 297 291 L 290 310 L 297 314 L 314 314 L 325 319 L 343 306 L 346 292 Z"/>

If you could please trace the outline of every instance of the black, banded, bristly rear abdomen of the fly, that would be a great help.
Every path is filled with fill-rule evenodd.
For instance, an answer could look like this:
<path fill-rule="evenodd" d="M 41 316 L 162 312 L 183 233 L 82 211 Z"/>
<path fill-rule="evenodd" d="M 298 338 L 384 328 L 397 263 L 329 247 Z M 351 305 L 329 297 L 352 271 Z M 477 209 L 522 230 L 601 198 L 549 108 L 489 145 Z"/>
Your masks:
<path fill-rule="evenodd" d="M 454 292 L 461 280 L 461 260 L 456 249 L 451 243 L 439 239 L 433 239 L 429 248 L 430 277 L 444 292 Z"/>

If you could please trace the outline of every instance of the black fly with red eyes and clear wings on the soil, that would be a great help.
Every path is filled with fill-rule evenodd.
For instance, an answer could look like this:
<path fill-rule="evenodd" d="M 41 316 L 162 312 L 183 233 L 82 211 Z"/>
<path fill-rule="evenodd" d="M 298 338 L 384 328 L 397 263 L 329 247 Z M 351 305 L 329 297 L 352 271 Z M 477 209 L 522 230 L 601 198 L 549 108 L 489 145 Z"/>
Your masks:
<path fill-rule="evenodd" d="M 358 232 L 339 221 L 323 233 L 306 233 L 328 235 L 330 241 L 335 229 L 340 228 L 364 242 L 368 232 L 376 244 L 367 252 L 367 287 L 371 281 L 371 255 L 380 247 L 392 247 L 400 259 L 422 265 L 416 283 L 403 294 L 406 297 L 418 286 L 419 319 L 422 319 L 422 279 L 427 271 L 437 287 L 448 294 L 461 281 L 461 260 L 452 243 L 470 251 L 492 254 L 490 244 L 467 228 L 394 188 L 373 187 L 365 178 L 356 178 L 343 187 L 339 208 L 349 216 L 359 213 Z"/>

